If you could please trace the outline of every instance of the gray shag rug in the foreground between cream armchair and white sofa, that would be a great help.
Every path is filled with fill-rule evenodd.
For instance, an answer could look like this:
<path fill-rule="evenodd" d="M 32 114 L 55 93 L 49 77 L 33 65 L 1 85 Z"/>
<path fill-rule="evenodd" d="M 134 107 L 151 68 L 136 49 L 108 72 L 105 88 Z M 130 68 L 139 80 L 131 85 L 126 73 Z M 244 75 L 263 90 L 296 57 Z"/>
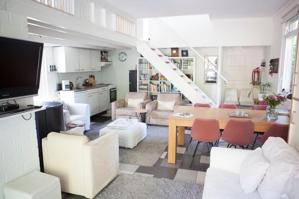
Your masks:
<path fill-rule="evenodd" d="M 95 199 L 201 199 L 203 184 L 119 174 Z"/>

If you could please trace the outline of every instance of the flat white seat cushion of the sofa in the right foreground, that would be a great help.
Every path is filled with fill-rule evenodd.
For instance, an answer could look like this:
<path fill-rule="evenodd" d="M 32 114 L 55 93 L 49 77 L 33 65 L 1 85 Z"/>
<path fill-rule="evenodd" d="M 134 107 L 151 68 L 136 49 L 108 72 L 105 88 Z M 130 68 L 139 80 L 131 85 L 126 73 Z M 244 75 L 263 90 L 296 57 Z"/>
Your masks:
<path fill-rule="evenodd" d="M 239 174 L 210 167 L 206 173 L 202 199 L 220 198 L 260 199 L 260 195 L 257 190 L 246 195 L 241 189 Z"/>

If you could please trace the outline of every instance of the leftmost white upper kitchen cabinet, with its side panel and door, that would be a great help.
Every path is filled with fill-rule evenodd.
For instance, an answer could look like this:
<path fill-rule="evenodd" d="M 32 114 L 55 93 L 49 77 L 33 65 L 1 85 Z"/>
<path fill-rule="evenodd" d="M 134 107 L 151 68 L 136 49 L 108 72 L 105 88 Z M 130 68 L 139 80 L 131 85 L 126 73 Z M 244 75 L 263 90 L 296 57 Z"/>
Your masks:
<path fill-rule="evenodd" d="M 79 48 L 53 47 L 54 65 L 58 72 L 79 72 Z"/>

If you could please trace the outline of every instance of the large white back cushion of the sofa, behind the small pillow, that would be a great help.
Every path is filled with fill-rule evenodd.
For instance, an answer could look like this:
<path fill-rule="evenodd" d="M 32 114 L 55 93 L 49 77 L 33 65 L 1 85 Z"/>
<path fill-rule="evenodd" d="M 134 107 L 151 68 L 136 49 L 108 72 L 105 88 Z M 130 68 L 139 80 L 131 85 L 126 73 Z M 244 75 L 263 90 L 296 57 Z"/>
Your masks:
<path fill-rule="evenodd" d="M 271 166 L 257 188 L 261 198 L 278 199 L 292 198 L 292 195 L 298 196 L 298 153 L 279 137 L 269 137 L 262 146 L 262 151 Z M 290 185 L 297 186 L 297 188 L 290 189 Z"/>

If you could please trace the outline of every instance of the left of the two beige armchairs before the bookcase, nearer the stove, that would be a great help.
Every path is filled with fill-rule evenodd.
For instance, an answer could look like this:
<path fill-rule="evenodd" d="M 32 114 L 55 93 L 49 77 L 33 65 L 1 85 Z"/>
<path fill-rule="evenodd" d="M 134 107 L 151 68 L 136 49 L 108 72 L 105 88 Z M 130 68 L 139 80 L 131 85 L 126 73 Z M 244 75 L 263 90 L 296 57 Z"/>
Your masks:
<path fill-rule="evenodd" d="M 144 104 L 139 103 L 136 108 L 128 108 L 128 99 L 143 99 Z M 118 101 L 112 102 L 112 121 L 118 118 L 129 118 L 132 116 L 133 119 L 137 119 L 136 109 L 145 109 L 147 103 L 152 100 L 147 99 L 147 92 L 127 92 L 126 98 Z M 144 118 L 144 115 L 142 115 Z M 141 121 L 141 117 L 139 117 Z"/>

